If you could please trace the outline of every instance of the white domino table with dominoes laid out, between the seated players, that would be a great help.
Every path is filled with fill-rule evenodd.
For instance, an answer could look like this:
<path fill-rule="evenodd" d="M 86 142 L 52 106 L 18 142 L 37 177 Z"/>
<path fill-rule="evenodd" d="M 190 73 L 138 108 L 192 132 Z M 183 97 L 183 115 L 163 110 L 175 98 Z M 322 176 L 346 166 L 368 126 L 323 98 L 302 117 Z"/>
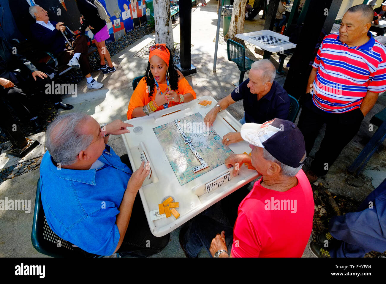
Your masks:
<path fill-rule="evenodd" d="M 210 100 L 212 104 L 204 107 L 198 104 L 200 100 Z M 197 158 L 197 160 L 193 161 L 195 163 L 194 166 L 197 165 L 197 167 L 193 168 L 193 172 L 199 172 L 210 167 L 208 165 L 210 162 L 205 161 L 200 156 L 198 151 L 201 151 L 201 149 L 199 149 L 200 146 L 197 146 L 195 136 L 185 134 L 182 127 L 183 123 L 180 119 L 196 113 L 205 117 L 208 111 L 216 104 L 217 102 L 212 97 L 206 96 L 188 103 L 169 107 L 162 111 L 153 112 L 149 116 L 137 117 L 126 121 L 134 125 L 134 127 L 141 126 L 143 128 L 141 134 L 134 133 L 132 131 L 134 128 L 130 128 L 130 133 L 123 134 L 122 138 L 133 171 L 137 170 L 144 159 L 150 163 L 151 174 L 142 184 L 139 194 L 141 195 L 149 227 L 154 236 L 164 236 L 173 231 L 258 176 L 255 170 L 249 170 L 243 165 L 240 167 L 239 175 L 233 177 L 231 174 L 233 168 L 228 169 L 221 161 L 222 165 L 180 185 L 153 128 L 169 122 L 171 126 L 176 127 L 179 131 L 179 134 L 176 131 L 176 135 L 181 136 L 174 139 L 181 139 L 181 143 L 189 145 L 190 150 Z M 225 134 L 235 131 L 232 126 L 237 131 L 240 131 L 241 124 L 227 110 L 224 110 L 217 114 L 211 129 L 222 139 Z M 196 145 L 196 148 L 193 144 Z M 229 148 L 234 153 L 251 152 L 251 148 L 249 148 L 248 143 L 245 141 L 231 144 Z M 173 215 L 169 218 L 166 218 L 165 214 L 159 215 L 158 204 L 162 203 L 169 196 L 173 197 L 173 202 L 179 202 L 179 207 L 176 208 L 180 214 L 178 219 L 174 218 Z"/>

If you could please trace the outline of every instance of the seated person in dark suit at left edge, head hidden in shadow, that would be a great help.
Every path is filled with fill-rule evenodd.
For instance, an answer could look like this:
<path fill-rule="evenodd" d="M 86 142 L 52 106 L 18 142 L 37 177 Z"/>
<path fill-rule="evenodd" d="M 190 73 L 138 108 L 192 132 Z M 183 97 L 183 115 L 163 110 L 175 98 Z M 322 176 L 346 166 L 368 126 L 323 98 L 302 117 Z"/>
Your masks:
<path fill-rule="evenodd" d="M 29 60 L 14 51 L 17 49 L 5 37 L 0 37 L 0 96 L 22 122 L 31 124 L 34 131 L 39 131 L 41 125 L 37 117 L 39 109 L 36 97 L 51 81 L 46 73 L 37 70 Z M 35 97 L 32 99 L 33 93 Z M 60 95 L 49 95 L 49 100 L 56 109 L 73 108 L 62 102 Z"/>

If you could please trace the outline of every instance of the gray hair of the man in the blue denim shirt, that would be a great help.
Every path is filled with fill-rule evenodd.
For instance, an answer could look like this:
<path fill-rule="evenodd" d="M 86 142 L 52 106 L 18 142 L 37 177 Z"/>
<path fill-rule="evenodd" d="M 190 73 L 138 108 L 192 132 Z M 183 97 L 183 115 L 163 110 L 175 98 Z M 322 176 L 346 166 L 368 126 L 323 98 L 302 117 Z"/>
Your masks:
<path fill-rule="evenodd" d="M 82 112 L 58 116 L 47 128 L 46 147 L 55 162 L 71 165 L 76 156 L 93 141 L 93 135 L 80 132 L 81 123 L 88 117 Z"/>

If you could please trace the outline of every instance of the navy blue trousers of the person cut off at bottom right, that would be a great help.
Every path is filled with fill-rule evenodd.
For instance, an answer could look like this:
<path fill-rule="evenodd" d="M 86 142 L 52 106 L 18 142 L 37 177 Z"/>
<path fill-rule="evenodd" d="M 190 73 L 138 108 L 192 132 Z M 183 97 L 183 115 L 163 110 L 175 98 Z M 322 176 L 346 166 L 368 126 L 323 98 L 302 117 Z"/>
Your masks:
<path fill-rule="evenodd" d="M 357 212 L 330 220 L 330 234 L 342 242 L 330 250 L 331 257 L 364 257 L 386 250 L 386 179 L 359 206 Z"/>

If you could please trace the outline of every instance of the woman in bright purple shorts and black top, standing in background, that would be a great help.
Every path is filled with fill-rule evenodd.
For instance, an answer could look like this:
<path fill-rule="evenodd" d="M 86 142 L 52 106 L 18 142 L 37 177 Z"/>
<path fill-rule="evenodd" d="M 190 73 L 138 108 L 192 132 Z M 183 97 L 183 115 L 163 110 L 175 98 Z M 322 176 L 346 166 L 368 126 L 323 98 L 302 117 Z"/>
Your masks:
<path fill-rule="evenodd" d="M 94 5 L 93 0 L 76 0 L 76 5 L 81 14 L 80 23 L 83 24 L 83 20 L 85 20 L 94 34 L 95 45 L 98 48 L 100 57 L 100 66 L 95 68 L 95 70 L 102 70 L 103 74 L 115 71 L 115 67 L 111 62 L 110 53 L 105 45 L 105 40 L 110 37 L 106 21 L 99 17 L 98 8 Z M 105 63 L 105 59 L 107 60 L 108 66 Z"/>

